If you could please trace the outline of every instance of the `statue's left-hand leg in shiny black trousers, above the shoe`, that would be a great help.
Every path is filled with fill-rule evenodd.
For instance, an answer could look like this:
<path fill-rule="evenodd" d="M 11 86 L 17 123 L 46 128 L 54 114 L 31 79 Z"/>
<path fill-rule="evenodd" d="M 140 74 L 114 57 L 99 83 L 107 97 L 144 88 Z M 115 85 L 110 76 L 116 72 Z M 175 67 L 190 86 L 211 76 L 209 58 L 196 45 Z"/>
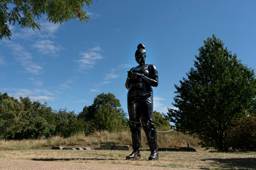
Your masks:
<path fill-rule="evenodd" d="M 139 151 L 141 147 L 141 112 L 135 100 L 127 100 L 128 113 L 130 118 L 130 129 L 132 133 L 132 149 Z"/>

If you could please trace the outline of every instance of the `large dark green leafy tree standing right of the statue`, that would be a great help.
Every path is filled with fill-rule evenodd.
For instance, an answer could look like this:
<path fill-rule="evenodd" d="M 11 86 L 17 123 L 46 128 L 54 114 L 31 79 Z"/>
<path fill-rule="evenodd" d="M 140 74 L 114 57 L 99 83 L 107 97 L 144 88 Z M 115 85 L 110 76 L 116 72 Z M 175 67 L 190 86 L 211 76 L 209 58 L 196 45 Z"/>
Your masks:
<path fill-rule="evenodd" d="M 227 150 L 227 131 L 232 120 L 243 118 L 255 108 L 256 80 L 254 70 L 232 56 L 224 43 L 213 38 L 195 56 L 194 67 L 174 85 L 177 95 L 168 108 L 168 118 L 178 131 L 198 134 L 201 144 L 216 150 Z"/>

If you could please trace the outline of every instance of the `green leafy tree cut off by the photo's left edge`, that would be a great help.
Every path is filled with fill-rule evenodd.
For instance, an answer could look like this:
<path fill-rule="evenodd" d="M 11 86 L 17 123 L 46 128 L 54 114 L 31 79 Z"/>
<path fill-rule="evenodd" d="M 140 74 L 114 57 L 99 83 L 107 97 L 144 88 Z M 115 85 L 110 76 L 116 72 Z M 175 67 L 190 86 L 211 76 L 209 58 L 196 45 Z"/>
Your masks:
<path fill-rule="evenodd" d="M 9 135 L 13 137 L 22 127 L 26 127 L 26 122 L 22 121 L 24 114 L 22 102 L 11 97 L 0 101 L 0 133 L 5 136 L 5 141 Z"/>

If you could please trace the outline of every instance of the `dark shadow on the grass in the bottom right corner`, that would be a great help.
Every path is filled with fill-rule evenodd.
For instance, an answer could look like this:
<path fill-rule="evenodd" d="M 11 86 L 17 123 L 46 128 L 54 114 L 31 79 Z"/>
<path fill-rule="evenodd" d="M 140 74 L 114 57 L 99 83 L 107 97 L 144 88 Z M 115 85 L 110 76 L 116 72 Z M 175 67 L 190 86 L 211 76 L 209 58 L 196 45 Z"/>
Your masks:
<path fill-rule="evenodd" d="M 256 158 L 227 158 L 227 159 L 201 159 L 202 161 L 212 160 L 218 164 L 219 168 L 250 168 L 256 170 Z"/>

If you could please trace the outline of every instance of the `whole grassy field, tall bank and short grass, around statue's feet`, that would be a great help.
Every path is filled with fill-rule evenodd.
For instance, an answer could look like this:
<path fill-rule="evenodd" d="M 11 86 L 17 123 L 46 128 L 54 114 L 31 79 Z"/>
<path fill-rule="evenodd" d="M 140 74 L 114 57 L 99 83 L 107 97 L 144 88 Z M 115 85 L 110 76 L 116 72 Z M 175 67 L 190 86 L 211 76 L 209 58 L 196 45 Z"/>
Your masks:
<path fill-rule="evenodd" d="M 114 150 L 50 150 L 51 146 L 99 147 L 106 141 L 113 144 L 131 145 L 128 132 L 95 132 L 91 136 L 76 134 L 70 138 L 53 137 L 50 139 L 20 140 L 0 142 L 0 158 L 46 160 L 81 163 L 110 163 L 126 165 L 160 166 L 191 169 L 231 169 L 256 170 L 255 152 L 220 153 L 208 152 L 197 145 L 196 138 L 178 133 L 157 134 L 159 147 L 186 147 L 190 143 L 197 152 L 159 152 L 158 161 L 149 161 L 150 152 L 141 151 L 142 158 L 125 160 L 130 151 Z M 142 149 L 148 149 L 145 136 Z M 130 146 L 131 147 L 131 146 Z"/>

